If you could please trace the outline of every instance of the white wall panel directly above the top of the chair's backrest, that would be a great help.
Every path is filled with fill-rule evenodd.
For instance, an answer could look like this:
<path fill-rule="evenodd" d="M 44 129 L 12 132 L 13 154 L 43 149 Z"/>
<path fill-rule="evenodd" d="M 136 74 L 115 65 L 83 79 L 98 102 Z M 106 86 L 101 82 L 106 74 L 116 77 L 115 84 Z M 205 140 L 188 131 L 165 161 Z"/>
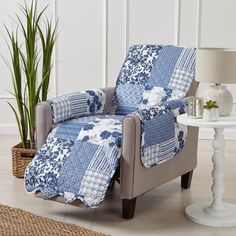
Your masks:
<path fill-rule="evenodd" d="M 128 44 L 173 44 L 174 0 L 129 0 Z"/>

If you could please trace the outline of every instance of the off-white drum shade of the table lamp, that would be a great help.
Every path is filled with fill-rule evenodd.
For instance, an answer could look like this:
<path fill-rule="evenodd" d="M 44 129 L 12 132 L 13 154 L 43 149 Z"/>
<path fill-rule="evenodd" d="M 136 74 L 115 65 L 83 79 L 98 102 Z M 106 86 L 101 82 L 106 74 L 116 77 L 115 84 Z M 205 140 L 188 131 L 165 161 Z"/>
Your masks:
<path fill-rule="evenodd" d="M 197 49 L 196 80 L 214 84 L 236 83 L 236 51 Z"/>

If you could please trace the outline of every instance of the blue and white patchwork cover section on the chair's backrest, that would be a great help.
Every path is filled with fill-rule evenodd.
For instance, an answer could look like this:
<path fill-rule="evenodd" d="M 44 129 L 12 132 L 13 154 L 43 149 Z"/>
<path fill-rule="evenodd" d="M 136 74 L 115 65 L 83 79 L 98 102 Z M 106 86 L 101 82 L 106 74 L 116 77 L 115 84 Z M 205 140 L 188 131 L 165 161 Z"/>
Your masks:
<path fill-rule="evenodd" d="M 194 48 L 131 46 L 117 79 L 110 112 L 127 115 L 185 97 L 195 76 L 195 56 Z"/>

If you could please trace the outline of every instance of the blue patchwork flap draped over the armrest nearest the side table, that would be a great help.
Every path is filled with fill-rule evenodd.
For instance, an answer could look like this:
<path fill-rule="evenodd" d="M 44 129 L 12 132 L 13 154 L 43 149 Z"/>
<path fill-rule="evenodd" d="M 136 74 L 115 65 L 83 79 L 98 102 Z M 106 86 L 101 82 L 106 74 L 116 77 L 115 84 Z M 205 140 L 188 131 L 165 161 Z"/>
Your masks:
<path fill-rule="evenodd" d="M 176 117 L 185 113 L 185 107 L 185 101 L 179 99 L 135 112 L 141 120 L 141 160 L 145 167 L 161 164 L 184 148 L 187 129 Z"/>

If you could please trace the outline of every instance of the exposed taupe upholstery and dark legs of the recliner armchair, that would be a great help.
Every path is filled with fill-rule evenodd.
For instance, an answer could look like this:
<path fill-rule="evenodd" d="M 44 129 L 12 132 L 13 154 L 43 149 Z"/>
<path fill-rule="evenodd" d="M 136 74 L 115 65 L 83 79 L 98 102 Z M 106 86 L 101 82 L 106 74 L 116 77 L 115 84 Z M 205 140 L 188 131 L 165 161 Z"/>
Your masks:
<path fill-rule="evenodd" d="M 194 96 L 197 87 L 198 83 L 193 81 L 185 96 Z M 104 88 L 102 90 L 106 94 L 104 114 L 109 114 L 112 103 L 114 103 L 116 90 L 115 88 Z M 121 157 L 118 177 L 120 197 L 122 199 L 122 215 L 128 219 L 134 216 L 136 198 L 143 193 L 176 177 L 181 177 L 182 188 L 189 188 L 193 170 L 197 165 L 198 128 L 190 127 L 185 147 L 178 155 L 161 164 L 146 168 L 141 161 L 142 126 L 140 122 L 140 117 L 137 114 L 130 113 L 124 117 L 122 123 Z M 52 107 L 48 102 L 42 102 L 37 105 L 36 110 L 38 149 L 45 143 L 52 128 Z M 36 196 L 43 197 L 39 191 L 36 192 Z M 55 196 L 50 200 L 64 202 L 64 199 L 60 196 Z M 80 200 L 75 200 L 70 204 L 82 205 Z"/>

